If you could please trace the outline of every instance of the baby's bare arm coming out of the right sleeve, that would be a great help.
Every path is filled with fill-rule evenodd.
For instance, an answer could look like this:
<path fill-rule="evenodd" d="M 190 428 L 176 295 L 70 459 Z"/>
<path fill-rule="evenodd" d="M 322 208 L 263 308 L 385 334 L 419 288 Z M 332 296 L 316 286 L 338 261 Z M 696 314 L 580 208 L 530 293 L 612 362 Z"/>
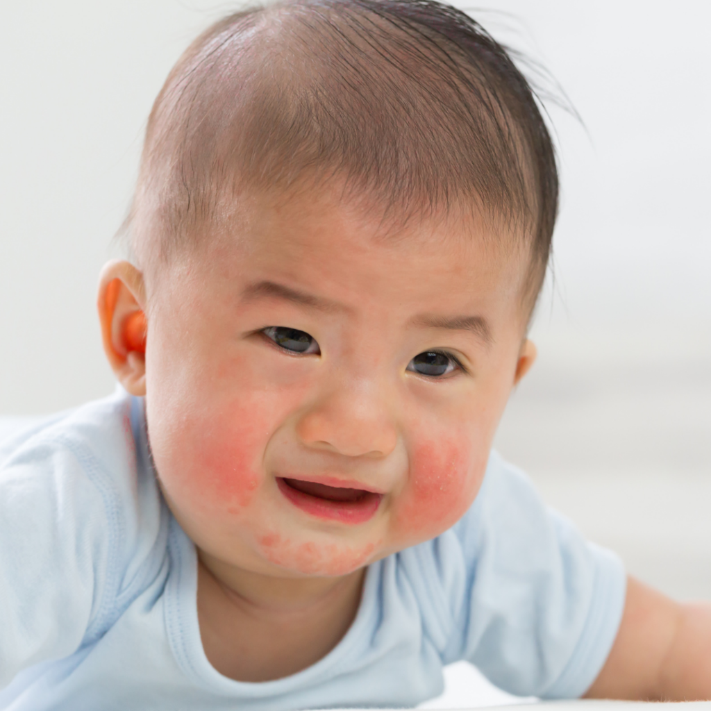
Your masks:
<path fill-rule="evenodd" d="M 711 699 L 711 603 L 680 603 L 630 578 L 614 646 L 588 697 Z"/>

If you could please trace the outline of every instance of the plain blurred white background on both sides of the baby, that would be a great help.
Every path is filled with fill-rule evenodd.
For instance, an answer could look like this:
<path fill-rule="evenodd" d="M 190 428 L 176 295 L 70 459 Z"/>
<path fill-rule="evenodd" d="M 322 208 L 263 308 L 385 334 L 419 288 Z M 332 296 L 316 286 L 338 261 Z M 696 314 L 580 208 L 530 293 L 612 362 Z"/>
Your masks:
<path fill-rule="evenodd" d="M 183 48 L 234 7 L 1 0 L 0 413 L 112 389 L 95 284 L 146 117 Z M 711 3 L 488 8 L 510 16 L 472 14 L 545 63 L 586 127 L 551 109 L 555 288 L 498 447 L 632 572 L 711 597 Z"/>

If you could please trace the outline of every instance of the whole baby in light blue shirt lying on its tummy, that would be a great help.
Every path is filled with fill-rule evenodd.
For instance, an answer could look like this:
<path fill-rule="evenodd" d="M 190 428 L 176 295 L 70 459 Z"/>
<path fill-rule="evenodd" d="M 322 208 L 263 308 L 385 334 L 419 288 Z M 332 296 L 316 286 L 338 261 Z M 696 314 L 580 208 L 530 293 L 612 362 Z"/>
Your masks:
<path fill-rule="evenodd" d="M 0 708 L 711 696 L 711 609 L 491 442 L 557 208 L 506 52 L 433 0 L 216 23 L 149 119 L 99 310 L 122 387 L 0 451 Z"/>

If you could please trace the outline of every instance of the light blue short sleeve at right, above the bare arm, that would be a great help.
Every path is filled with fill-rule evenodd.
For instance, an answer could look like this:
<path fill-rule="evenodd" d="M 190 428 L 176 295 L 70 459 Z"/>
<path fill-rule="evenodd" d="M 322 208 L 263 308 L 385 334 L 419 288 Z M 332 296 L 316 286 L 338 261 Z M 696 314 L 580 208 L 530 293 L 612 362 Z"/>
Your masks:
<path fill-rule="evenodd" d="M 495 453 L 454 533 L 466 582 L 446 662 L 466 659 L 516 695 L 581 696 L 621 621 L 626 574 L 619 558 L 584 540 Z"/>

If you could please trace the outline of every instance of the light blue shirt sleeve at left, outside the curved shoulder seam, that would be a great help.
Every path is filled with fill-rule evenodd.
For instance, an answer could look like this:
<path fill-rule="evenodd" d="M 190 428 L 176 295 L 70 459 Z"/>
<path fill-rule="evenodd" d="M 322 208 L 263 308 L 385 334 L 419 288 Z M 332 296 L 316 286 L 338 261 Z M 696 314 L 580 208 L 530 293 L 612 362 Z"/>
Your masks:
<path fill-rule="evenodd" d="M 112 522 L 90 459 L 33 442 L 0 469 L 0 688 L 69 656 L 103 604 Z"/>

